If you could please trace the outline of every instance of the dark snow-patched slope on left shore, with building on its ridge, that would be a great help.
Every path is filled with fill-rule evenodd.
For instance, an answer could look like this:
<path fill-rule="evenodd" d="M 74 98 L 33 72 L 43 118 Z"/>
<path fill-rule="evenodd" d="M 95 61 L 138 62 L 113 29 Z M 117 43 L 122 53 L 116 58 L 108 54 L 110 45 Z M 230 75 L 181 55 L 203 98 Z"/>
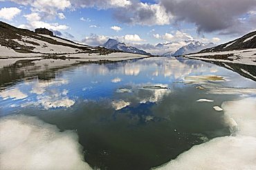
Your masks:
<path fill-rule="evenodd" d="M 114 50 L 104 47 L 91 47 L 75 43 L 68 39 L 53 36 L 51 30 L 38 28 L 35 32 L 15 28 L 12 25 L 0 21 L 0 47 L 1 54 L 80 54 L 97 53 L 110 54 Z"/>

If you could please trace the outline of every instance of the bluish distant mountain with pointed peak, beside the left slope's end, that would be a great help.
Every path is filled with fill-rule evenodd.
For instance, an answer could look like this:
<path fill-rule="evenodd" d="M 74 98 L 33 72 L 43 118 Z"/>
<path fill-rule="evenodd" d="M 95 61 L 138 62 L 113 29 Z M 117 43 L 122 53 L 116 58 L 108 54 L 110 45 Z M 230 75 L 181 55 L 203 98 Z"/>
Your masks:
<path fill-rule="evenodd" d="M 118 51 L 122 51 L 122 52 L 130 52 L 130 53 L 134 53 L 134 54 L 151 55 L 150 53 L 145 52 L 143 50 L 139 50 L 136 47 L 128 46 L 125 43 L 120 43 L 119 41 L 116 41 L 115 39 L 109 39 L 102 46 L 106 47 L 107 49 L 110 49 L 110 50 L 118 50 Z"/>

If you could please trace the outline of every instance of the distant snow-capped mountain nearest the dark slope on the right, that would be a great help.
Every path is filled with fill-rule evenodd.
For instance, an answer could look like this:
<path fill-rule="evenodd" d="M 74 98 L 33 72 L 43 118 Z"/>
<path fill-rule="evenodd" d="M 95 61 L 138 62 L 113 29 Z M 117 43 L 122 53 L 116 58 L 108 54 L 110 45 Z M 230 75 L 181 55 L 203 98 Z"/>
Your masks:
<path fill-rule="evenodd" d="M 172 56 L 181 56 L 184 54 L 190 54 L 194 52 L 199 52 L 208 47 L 214 47 L 214 43 L 202 43 L 200 41 L 188 41 L 188 45 L 185 45 L 176 52 L 172 54 Z"/>

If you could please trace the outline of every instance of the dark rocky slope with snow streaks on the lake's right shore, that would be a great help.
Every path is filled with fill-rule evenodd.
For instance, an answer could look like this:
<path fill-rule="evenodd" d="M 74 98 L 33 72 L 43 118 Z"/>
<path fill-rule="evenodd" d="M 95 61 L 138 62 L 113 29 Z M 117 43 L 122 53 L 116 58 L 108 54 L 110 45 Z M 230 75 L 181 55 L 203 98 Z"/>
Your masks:
<path fill-rule="evenodd" d="M 210 47 L 205 50 L 201 50 L 200 53 L 226 52 L 231 50 L 246 50 L 251 48 L 256 48 L 256 31 L 250 32 L 239 39 L 235 39 L 234 41 L 218 45 L 217 47 Z"/>

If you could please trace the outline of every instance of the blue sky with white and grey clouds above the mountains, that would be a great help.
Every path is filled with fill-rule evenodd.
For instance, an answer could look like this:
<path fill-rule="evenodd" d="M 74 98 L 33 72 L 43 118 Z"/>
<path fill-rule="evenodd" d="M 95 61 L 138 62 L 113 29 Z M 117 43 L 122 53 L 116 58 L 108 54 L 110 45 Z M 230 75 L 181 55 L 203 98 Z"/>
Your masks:
<path fill-rule="evenodd" d="M 256 0 L 0 0 L 0 20 L 88 45 L 220 44 L 255 30 Z"/>

